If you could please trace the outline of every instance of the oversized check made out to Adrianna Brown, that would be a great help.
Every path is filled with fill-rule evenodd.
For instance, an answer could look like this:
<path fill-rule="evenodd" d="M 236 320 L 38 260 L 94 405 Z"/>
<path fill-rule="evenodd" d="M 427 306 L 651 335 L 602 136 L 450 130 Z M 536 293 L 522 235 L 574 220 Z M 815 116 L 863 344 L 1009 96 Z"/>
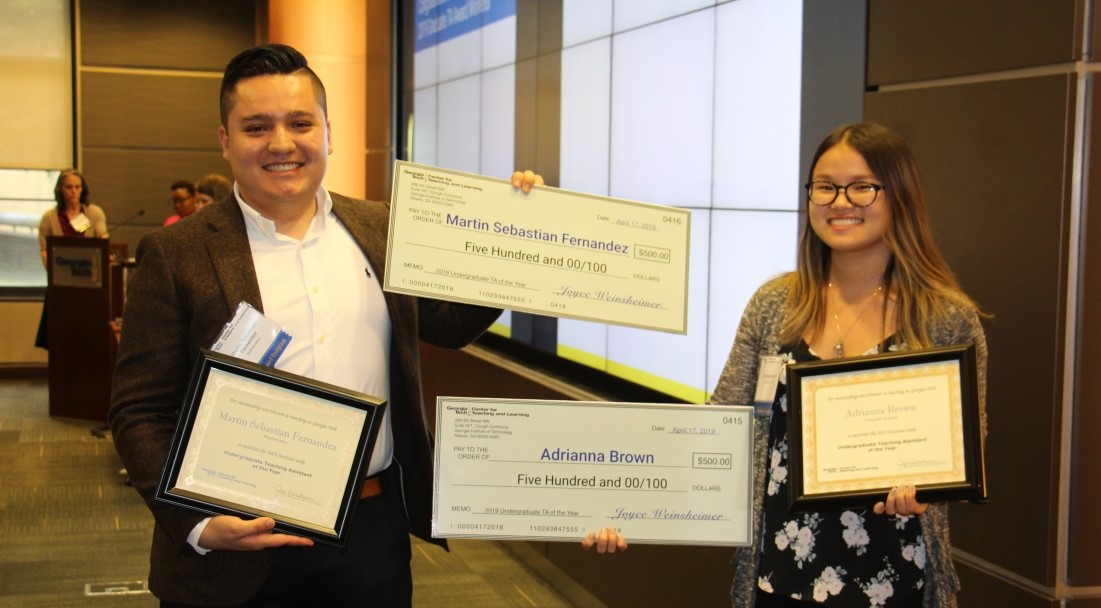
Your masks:
<path fill-rule="evenodd" d="M 442 397 L 437 538 L 744 545 L 751 406 Z"/>

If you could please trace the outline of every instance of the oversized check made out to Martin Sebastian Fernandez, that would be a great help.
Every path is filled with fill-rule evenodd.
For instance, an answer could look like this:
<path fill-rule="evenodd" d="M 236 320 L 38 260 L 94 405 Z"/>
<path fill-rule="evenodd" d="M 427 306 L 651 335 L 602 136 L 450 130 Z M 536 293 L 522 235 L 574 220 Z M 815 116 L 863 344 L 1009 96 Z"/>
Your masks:
<path fill-rule="evenodd" d="M 684 334 L 690 218 L 399 161 L 383 289 Z"/>

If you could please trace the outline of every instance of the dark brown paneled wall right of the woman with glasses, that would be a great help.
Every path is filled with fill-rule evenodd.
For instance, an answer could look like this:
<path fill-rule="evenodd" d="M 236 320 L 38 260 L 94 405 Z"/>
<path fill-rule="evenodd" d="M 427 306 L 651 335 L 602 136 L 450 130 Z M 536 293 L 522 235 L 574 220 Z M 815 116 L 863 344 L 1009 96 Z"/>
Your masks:
<path fill-rule="evenodd" d="M 1101 558 L 1084 541 L 1101 538 L 1088 509 L 1101 495 L 1090 466 L 1101 457 L 1090 441 L 1101 432 L 1101 330 L 1090 316 L 1101 294 L 1084 278 L 1099 272 L 1101 231 L 1081 222 L 1097 198 L 1087 177 L 1101 143 L 1090 95 L 1098 67 L 1083 47 L 1095 7 L 869 9 L 864 116 L 911 143 L 938 242 L 994 315 L 984 324 L 991 498 L 951 515 L 960 605 L 1098 601 Z"/>

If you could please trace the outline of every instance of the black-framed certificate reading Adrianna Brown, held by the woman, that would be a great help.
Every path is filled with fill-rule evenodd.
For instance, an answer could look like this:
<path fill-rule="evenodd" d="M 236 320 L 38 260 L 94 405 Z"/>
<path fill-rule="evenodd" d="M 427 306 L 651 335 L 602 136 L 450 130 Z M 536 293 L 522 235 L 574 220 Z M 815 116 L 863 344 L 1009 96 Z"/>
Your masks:
<path fill-rule="evenodd" d="M 787 368 L 792 508 L 986 497 L 974 346 Z"/>

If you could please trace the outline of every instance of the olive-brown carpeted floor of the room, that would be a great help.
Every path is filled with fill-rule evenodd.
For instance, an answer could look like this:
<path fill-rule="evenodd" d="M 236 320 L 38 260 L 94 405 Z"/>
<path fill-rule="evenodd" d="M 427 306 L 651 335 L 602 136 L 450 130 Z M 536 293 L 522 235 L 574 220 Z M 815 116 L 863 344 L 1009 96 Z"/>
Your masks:
<path fill-rule="evenodd" d="M 157 606 L 152 517 L 110 434 L 51 419 L 45 379 L 0 380 L 0 607 Z M 415 541 L 414 606 L 600 606 L 526 543 Z"/>

